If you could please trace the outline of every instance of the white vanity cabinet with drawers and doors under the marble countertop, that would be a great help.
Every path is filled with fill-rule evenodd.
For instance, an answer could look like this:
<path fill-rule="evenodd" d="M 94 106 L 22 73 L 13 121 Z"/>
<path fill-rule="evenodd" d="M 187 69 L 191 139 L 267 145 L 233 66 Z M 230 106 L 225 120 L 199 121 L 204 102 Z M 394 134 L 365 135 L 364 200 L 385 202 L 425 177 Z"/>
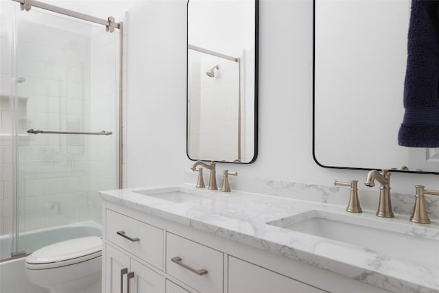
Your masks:
<path fill-rule="evenodd" d="M 106 293 L 387 292 L 199 231 L 186 218 L 165 220 L 110 201 L 103 208 Z"/>

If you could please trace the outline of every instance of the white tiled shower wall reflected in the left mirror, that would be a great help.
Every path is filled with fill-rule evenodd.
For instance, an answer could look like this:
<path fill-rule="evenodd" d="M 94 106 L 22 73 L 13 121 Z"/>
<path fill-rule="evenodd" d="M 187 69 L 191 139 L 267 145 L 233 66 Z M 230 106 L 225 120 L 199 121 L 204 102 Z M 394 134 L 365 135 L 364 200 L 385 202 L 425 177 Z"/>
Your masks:
<path fill-rule="evenodd" d="M 198 51 L 189 54 L 190 155 L 233 161 L 239 156 L 239 65 Z M 214 77 L 202 74 L 212 65 L 219 65 Z"/>

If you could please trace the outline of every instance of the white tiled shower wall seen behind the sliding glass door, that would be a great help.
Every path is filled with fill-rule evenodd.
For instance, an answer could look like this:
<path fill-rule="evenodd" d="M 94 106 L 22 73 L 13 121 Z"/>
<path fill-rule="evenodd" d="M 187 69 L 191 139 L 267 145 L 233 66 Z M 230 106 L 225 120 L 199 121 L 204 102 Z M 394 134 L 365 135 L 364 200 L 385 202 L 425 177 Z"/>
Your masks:
<path fill-rule="evenodd" d="M 3 24 L 10 19 L 3 16 L 1 21 L 1 93 L 9 96 L 12 71 L 5 65 L 11 64 L 11 40 Z M 69 26 L 57 17 L 43 22 L 49 25 L 17 19 L 17 75 L 26 78 L 16 84 L 19 231 L 99 220 L 95 190 L 117 186 L 117 147 L 106 146 L 116 145 L 115 134 L 34 135 L 26 130 L 115 133 L 118 37 L 108 37 L 102 27 L 99 31 L 89 25 Z M 9 97 L 1 99 L 0 235 L 10 233 L 12 227 L 10 101 Z"/>

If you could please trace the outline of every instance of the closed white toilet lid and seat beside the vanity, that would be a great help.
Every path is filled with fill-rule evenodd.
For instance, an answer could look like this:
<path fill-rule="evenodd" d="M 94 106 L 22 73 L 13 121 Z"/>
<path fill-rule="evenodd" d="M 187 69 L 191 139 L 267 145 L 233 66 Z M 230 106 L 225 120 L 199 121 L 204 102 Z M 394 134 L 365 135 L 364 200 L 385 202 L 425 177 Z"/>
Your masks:
<path fill-rule="evenodd" d="M 101 256 L 101 237 L 81 237 L 36 250 L 26 258 L 25 268 L 29 270 L 60 268 Z"/>

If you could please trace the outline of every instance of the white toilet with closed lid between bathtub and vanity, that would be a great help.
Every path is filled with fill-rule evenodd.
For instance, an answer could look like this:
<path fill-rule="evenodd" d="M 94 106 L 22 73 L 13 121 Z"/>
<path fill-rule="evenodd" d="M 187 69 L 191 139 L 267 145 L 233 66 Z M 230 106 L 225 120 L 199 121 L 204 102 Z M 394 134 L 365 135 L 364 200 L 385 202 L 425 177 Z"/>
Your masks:
<path fill-rule="evenodd" d="M 27 279 L 51 293 L 100 293 L 102 238 L 81 237 L 36 250 L 25 261 Z"/>

